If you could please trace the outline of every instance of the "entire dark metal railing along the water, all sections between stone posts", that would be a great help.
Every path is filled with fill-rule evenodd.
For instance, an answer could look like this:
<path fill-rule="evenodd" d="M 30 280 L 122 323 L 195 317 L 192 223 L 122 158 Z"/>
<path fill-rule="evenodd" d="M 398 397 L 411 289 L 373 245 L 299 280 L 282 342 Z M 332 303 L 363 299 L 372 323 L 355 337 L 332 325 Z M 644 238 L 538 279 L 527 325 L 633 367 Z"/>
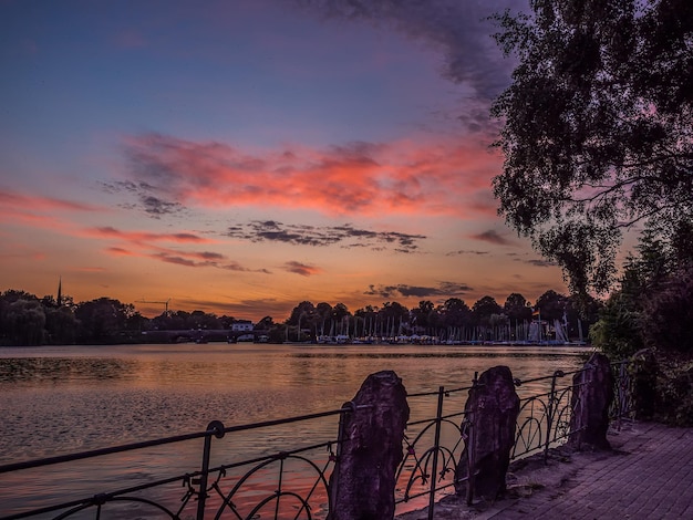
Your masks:
<path fill-rule="evenodd" d="M 617 363 L 613 366 L 616 397 L 611 418 L 619 420 L 630 414 L 632 388 L 627 364 Z M 573 407 L 579 405 L 573 398 L 576 386 L 571 383 L 572 377 L 566 378 L 586 370 L 556 371 L 545 377 L 514 379 L 518 395 L 528 386 L 536 387 L 537 384 L 549 386 L 550 389 L 534 395 L 520 395 L 513 459 L 541 451 L 547 457 L 550 447 L 565 443 L 571 434 L 570 417 Z M 563 381 L 569 382 L 561 384 Z M 414 417 L 406 426 L 403 460 L 396 470 L 395 502 L 401 508 L 416 505 L 417 509 L 428 506 L 428 518 L 432 519 L 435 502 L 444 495 L 459 492 L 459 485 L 465 481 L 468 481 L 466 499 L 467 502 L 472 501 L 474 475 L 470 468 L 474 454 L 467 447 L 474 445 L 475 428 L 472 417 L 465 412 L 465 401 L 469 391 L 477 386 L 475 374 L 470 386 L 455 388 L 439 386 L 434 392 L 407 395 L 410 406 L 414 404 L 412 406 Z M 432 408 L 433 399 L 435 415 L 416 417 L 417 414 L 425 415 L 422 410 Z M 337 437 L 324 434 L 325 438 L 320 440 L 309 433 L 307 437 L 310 438 L 306 439 L 307 444 L 303 446 L 259 454 L 242 460 L 227 460 L 223 464 L 213 464 L 213 453 L 215 448 L 219 448 L 214 459 L 227 456 L 232 458 L 229 455 L 234 453 L 232 446 L 229 448 L 229 445 L 232 444 L 235 435 L 241 433 L 252 435 L 258 430 L 290 423 L 304 425 L 339 416 L 340 427 L 334 429 L 340 429 L 345 414 L 368 413 L 368 408 L 370 406 L 346 403 L 339 409 L 230 427 L 213 420 L 204 431 L 0 466 L 0 475 L 32 469 L 43 470 L 50 466 L 75 464 L 79 460 L 101 460 L 102 457 L 114 454 L 203 441 L 199 469 L 193 472 L 161 479 L 148 477 L 146 481 L 134 486 L 74 500 L 58 501 L 31 510 L 22 508 L 9 516 L 1 516 L 7 512 L 0 512 L 0 519 L 72 520 L 85 518 L 83 513 L 89 511 L 91 511 L 89 518 L 99 519 L 106 510 L 108 518 L 132 518 L 132 508 L 135 507 L 138 508 L 137 516 L 174 520 L 219 519 L 223 516 L 237 519 L 260 518 L 259 516 L 275 519 L 325 518 L 331 501 L 330 476 L 339 458 L 340 439 L 343 438 L 341 431 L 337 433 Z M 461 468 L 466 470 L 461 471 Z"/>

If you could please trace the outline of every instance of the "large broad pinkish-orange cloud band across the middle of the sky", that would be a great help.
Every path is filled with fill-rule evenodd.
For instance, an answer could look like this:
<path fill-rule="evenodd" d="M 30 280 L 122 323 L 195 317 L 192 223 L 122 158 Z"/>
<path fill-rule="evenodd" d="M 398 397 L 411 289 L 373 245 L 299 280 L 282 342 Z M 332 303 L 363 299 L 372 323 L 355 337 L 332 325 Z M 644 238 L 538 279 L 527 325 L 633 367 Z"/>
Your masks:
<path fill-rule="evenodd" d="M 329 215 L 495 216 L 490 179 L 501 167 L 498 154 L 470 143 L 353 143 L 254 155 L 148 134 L 132 138 L 127 153 L 132 175 L 157 197 L 203 207 L 300 206 Z"/>

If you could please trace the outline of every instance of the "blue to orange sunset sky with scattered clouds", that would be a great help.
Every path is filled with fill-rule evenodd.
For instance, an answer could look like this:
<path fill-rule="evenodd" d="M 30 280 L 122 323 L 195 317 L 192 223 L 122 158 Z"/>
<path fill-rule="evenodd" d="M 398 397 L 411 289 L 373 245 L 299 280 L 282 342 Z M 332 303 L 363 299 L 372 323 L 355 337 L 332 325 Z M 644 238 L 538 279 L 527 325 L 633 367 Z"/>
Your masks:
<path fill-rule="evenodd" d="M 0 0 L 0 290 L 285 320 L 531 302 L 487 17 L 523 0 Z"/>

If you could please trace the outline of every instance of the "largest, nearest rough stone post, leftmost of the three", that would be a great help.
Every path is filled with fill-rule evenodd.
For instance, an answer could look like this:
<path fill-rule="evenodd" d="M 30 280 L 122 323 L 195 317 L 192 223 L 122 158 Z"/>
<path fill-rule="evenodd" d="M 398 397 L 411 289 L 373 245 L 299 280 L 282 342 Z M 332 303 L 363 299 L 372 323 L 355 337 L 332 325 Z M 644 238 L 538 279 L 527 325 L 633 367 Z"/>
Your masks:
<path fill-rule="evenodd" d="M 342 416 L 328 520 L 393 519 L 410 416 L 406 391 L 394 372 L 377 372 L 366 377 L 352 403 L 356 409 Z M 369 408 L 359 409 L 364 405 Z"/>

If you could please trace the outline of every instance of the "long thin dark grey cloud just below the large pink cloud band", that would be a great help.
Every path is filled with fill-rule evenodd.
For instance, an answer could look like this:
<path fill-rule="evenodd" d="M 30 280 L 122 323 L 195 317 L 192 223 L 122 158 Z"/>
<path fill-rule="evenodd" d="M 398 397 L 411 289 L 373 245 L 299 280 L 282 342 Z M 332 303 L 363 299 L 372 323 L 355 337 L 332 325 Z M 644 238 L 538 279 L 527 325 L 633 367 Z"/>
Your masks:
<path fill-rule="evenodd" d="M 395 246 L 399 252 L 414 252 L 418 241 L 426 239 L 424 235 L 407 235 L 397 231 L 371 231 L 358 229 L 350 225 L 343 226 L 309 226 L 283 225 L 276 220 L 254 220 L 246 225 L 232 225 L 228 236 L 252 242 L 283 242 L 293 246 L 332 246 L 371 247 L 377 245 Z"/>

